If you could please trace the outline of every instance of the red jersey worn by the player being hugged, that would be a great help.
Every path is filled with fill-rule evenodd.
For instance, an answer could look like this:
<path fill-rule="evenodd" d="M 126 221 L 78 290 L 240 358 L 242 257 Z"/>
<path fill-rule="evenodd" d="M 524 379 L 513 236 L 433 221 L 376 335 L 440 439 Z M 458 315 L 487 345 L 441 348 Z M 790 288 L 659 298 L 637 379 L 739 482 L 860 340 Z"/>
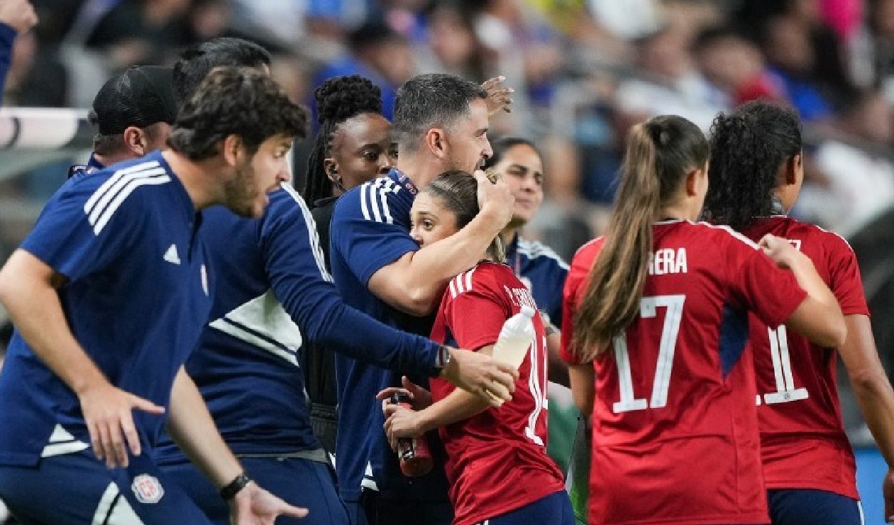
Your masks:
<path fill-rule="evenodd" d="M 478 350 L 496 343 L 503 322 L 534 298 L 510 267 L 482 262 L 451 281 L 434 320 L 432 339 Z M 519 367 L 515 394 L 499 409 L 441 428 L 453 525 L 479 523 L 564 490 L 561 470 L 546 455 L 546 337 L 535 337 Z M 455 388 L 432 379 L 438 401 Z"/>

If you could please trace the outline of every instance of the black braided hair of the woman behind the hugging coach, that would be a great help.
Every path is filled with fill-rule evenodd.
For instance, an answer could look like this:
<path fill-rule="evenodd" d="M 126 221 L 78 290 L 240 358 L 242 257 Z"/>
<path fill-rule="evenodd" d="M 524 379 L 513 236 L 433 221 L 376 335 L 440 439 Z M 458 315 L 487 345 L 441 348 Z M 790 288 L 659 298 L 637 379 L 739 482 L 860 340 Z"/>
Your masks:
<path fill-rule="evenodd" d="M 332 182 L 326 176 L 324 161 L 329 157 L 333 133 L 338 126 L 358 114 L 382 114 L 382 90 L 372 80 L 360 75 L 334 77 L 323 82 L 314 92 L 316 98 L 316 133 L 314 149 L 308 158 L 302 197 L 312 207 L 319 199 L 333 196 Z"/>

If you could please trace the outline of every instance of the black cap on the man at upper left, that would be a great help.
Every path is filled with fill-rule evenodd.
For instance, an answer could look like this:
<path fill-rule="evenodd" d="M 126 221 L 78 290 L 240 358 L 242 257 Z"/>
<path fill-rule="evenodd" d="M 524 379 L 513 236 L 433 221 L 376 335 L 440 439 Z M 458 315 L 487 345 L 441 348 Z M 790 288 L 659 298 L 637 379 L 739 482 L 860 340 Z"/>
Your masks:
<path fill-rule="evenodd" d="M 90 115 L 99 134 L 117 135 L 128 126 L 173 124 L 177 119 L 177 104 L 173 97 L 172 72 L 170 67 L 137 65 L 106 80 L 93 99 Z"/>

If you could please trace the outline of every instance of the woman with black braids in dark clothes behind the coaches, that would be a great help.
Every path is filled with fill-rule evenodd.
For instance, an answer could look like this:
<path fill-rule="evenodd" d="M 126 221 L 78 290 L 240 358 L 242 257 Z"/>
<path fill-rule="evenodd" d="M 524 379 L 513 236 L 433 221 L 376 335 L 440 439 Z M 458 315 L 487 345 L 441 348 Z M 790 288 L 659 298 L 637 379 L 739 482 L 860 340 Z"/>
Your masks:
<path fill-rule="evenodd" d="M 388 173 L 397 160 L 397 145 L 391 123 L 382 116 L 382 92 L 372 81 L 359 75 L 334 77 L 317 88 L 314 96 L 320 130 L 308 159 L 302 196 L 311 207 L 328 269 L 329 223 L 336 199 Z M 333 352 L 322 348 L 303 352 L 301 367 L 314 433 L 334 453 L 338 396 Z"/>

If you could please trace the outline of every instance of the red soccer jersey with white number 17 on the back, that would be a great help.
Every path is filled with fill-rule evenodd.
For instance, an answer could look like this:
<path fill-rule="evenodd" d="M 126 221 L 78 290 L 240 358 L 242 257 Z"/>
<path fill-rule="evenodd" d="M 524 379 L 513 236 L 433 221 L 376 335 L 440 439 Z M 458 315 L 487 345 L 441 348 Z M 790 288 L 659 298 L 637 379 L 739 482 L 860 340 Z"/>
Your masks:
<path fill-rule="evenodd" d="M 665 221 L 653 232 L 639 316 L 594 361 L 590 522 L 769 522 L 747 312 L 779 325 L 805 292 L 728 228 Z M 571 263 L 563 335 L 602 247 Z M 561 353 L 575 362 L 569 337 Z"/>

